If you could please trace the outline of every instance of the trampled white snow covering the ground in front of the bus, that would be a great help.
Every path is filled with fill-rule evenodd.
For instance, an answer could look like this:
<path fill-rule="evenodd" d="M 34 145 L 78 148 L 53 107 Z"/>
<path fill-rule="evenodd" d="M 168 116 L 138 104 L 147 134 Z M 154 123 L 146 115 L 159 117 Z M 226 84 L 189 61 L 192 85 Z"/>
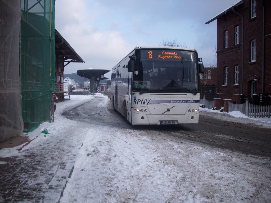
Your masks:
<path fill-rule="evenodd" d="M 271 201 L 270 158 L 190 142 L 181 138 L 183 131 L 176 136 L 125 127 L 120 115 L 108 111 L 109 103 L 100 93 L 72 95 L 57 103 L 54 123 L 29 134 L 37 139 L 20 153 L 5 149 L 0 156 L 47 153 L 44 164 L 50 163 L 51 179 L 37 173 L 28 180 L 42 185 L 41 202 Z M 84 112 L 84 105 L 92 111 Z M 78 117 L 93 117 L 93 122 Z M 103 122 L 97 122 L 99 117 Z M 44 128 L 50 133 L 46 137 Z M 59 152 L 53 143 L 60 144 Z"/>

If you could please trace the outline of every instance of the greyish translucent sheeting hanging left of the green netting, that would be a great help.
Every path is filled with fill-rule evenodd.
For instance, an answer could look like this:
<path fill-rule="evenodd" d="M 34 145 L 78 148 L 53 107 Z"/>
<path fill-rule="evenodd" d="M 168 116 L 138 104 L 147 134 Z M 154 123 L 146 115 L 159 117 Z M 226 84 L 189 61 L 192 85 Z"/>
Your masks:
<path fill-rule="evenodd" d="M 23 131 L 18 0 L 0 0 L 0 141 Z"/>

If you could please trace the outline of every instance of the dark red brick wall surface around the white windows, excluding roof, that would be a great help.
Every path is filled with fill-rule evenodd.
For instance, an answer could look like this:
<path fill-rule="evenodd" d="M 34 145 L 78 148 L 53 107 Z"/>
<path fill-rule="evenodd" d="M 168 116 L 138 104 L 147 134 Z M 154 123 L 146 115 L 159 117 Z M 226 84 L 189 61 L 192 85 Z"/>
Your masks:
<path fill-rule="evenodd" d="M 271 94 L 271 1 L 263 1 L 265 5 L 265 93 Z M 232 99 L 240 103 L 240 94 L 246 94 L 251 99 L 251 82 L 257 81 L 257 94 L 262 91 L 263 69 L 263 7 L 256 2 L 256 18 L 250 19 L 250 0 L 244 0 L 243 4 L 234 8 L 244 16 L 244 64 L 243 64 L 243 92 L 242 92 L 242 18 L 233 11 L 217 18 L 217 65 L 218 65 L 218 88 L 217 97 Z M 239 44 L 235 45 L 235 27 L 239 25 Z M 224 32 L 228 31 L 228 47 L 224 48 Z M 269 37 L 268 37 L 269 36 Z M 251 62 L 251 40 L 256 40 L 256 61 Z M 239 82 L 235 84 L 235 66 L 239 65 Z M 224 84 L 224 68 L 228 67 L 228 81 Z M 257 77 L 251 78 L 250 75 Z"/>

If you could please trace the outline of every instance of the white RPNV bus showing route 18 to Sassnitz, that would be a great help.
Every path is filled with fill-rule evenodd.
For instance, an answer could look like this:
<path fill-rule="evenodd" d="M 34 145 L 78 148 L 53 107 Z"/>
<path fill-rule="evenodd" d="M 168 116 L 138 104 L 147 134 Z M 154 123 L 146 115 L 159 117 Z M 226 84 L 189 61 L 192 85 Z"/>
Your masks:
<path fill-rule="evenodd" d="M 112 69 L 111 104 L 132 125 L 198 123 L 199 73 L 195 49 L 136 47 Z"/>

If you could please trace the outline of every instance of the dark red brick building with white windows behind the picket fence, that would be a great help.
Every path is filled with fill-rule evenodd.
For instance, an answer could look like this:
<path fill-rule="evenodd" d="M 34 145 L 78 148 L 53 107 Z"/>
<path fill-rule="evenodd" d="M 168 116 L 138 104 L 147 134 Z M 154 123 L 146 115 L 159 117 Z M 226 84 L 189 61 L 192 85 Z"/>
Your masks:
<path fill-rule="evenodd" d="M 217 97 L 271 104 L 271 1 L 240 0 L 217 19 Z"/>

